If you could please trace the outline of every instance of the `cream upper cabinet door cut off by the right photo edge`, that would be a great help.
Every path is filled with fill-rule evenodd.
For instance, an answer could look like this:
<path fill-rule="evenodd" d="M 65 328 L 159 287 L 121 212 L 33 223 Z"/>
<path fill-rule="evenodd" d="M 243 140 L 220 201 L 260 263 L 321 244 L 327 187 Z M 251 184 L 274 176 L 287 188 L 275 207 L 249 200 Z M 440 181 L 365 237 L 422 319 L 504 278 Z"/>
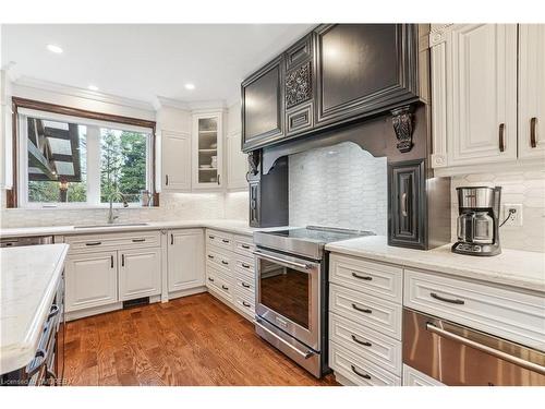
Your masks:
<path fill-rule="evenodd" d="M 545 24 L 519 25 L 519 157 L 545 157 Z"/>

